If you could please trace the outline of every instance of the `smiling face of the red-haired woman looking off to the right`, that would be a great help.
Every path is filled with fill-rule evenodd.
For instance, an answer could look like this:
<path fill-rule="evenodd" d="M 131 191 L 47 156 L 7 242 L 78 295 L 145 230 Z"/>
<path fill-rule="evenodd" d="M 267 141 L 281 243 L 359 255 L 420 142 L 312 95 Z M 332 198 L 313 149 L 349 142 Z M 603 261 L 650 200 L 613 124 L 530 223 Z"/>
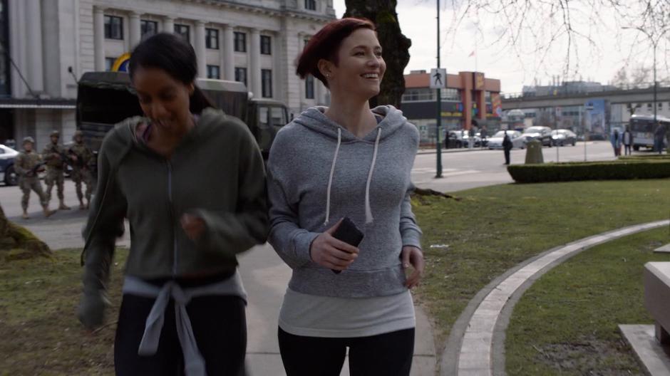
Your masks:
<path fill-rule="evenodd" d="M 360 95 L 365 100 L 379 93 L 386 71 L 375 31 L 359 28 L 342 41 L 337 64 L 326 62 L 321 71 L 334 93 Z"/>

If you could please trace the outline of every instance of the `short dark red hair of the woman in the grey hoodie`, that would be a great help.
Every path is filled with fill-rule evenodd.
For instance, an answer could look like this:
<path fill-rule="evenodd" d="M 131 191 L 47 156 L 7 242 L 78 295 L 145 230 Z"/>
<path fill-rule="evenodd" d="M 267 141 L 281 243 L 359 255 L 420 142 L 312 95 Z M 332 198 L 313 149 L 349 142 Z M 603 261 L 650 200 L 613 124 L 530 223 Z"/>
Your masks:
<path fill-rule="evenodd" d="M 311 74 L 318 78 L 326 88 L 328 81 L 319 71 L 319 60 L 326 59 L 337 65 L 337 52 L 342 41 L 359 28 L 369 28 L 376 31 L 374 23 L 368 19 L 346 18 L 331 21 L 307 42 L 304 50 L 297 59 L 296 74 L 305 78 Z"/>

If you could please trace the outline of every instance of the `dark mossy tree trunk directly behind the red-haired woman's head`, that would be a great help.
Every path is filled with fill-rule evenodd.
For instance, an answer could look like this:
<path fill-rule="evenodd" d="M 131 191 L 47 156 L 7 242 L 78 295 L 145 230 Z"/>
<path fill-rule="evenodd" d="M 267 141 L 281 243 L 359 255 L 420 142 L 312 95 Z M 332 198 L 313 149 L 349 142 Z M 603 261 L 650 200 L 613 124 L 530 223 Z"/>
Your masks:
<path fill-rule="evenodd" d="M 346 0 L 345 17 L 364 17 L 377 26 L 377 36 L 386 61 L 386 73 L 379 95 L 370 99 L 371 108 L 393 105 L 400 108 L 405 92 L 404 71 L 412 41 L 403 35 L 396 13 L 396 0 Z"/>

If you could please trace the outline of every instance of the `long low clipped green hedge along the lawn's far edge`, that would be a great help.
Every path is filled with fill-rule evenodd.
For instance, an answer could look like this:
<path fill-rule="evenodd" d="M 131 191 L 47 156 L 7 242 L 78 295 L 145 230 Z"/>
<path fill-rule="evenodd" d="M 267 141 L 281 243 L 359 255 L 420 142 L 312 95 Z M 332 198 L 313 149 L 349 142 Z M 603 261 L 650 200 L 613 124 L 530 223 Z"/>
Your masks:
<path fill-rule="evenodd" d="M 670 177 L 670 160 L 630 158 L 604 162 L 512 164 L 507 166 L 507 172 L 517 183 L 662 179 Z"/>

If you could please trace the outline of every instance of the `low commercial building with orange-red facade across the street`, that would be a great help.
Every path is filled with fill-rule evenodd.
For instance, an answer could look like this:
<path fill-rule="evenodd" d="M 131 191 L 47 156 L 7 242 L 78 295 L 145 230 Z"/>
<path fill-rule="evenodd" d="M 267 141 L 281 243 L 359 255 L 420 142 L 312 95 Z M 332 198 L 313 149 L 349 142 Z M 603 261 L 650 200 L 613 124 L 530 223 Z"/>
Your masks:
<path fill-rule="evenodd" d="M 404 115 L 421 132 L 421 142 L 435 142 L 436 90 L 430 88 L 430 73 L 412 71 L 405 75 Z M 488 133 L 500 128 L 500 80 L 486 78 L 481 72 L 459 72 L 447 75 L 447 88 L 441 90 L 442 135 L 447 130 L 470 129 L 473 120 L 478 127 L 486 125 Z"/>

